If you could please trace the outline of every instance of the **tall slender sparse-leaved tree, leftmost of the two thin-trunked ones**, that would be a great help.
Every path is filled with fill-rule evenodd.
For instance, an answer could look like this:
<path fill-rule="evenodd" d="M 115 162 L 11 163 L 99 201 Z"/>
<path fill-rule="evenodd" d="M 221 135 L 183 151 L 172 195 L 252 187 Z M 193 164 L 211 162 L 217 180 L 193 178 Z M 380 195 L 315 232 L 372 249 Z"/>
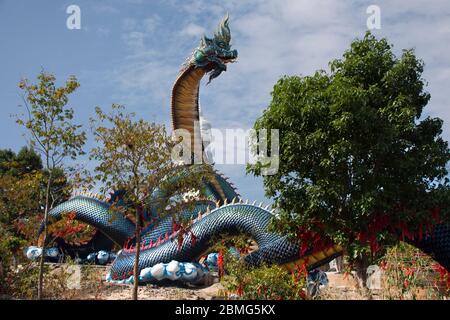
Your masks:
<path fill-rule="evenodd" d="M 30 145 L 38 151 L 43 159 L 45 170 L 44 192 L 44 231 L 42 250 L 45 252 L 47 241 L 48 211 L 55 204 L 52 198 L 52 188 L 57 177 L 64 172 L 64 161 L 74 160 L 83 154 L 82 147 L 86 134 L 80 125 L 73 123 L 74 111 L 68 107 L 69 95 L 79 86 L 77 79 L 69 77 L 64 86 L 57 87 L 53 74 L 41 71 L 36 84 L 23 79 L 19 88 L 23 91 L 22 107 L 25 115 L 17 117 L 17 123 L 25 127 L 29 133 Z M 38 281 L 38 299 L 42 298 L 42 283 L 44 271 L 44 254 L 41 255 Z"/>

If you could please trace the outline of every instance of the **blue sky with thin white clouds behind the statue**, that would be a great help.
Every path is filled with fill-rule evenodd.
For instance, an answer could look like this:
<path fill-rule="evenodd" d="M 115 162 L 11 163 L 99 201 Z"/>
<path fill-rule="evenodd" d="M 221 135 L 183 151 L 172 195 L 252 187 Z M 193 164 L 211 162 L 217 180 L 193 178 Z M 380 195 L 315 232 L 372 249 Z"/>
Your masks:
<path fill-rule="evenodd" d="M 81 9 L 81 30 L 66 28 L 66 8 Z M 139 117 L 169 125 L 169 97 L 179 67 L 200 36 L 229 12 L 238 63 L 201 87 L 204 116 L 214 128 L 249 128 L 283 75 L 326 69 L 367 29 L 366 8 L 381 8 L 381 29 L 397 53 L 415 48 L 425 61 L 432 99 L 426 115 L 444 119 L 450 139 L 450 2 L 433 1 L 56 1 L 0 0 L 0 148 L 18 150 L 23 132 L 10 114 L 20 104 L 17 83 L 41 68 L 57 79 L 76 75 L 76 121 L 87 125 L 95 106 L 124 104 Z M 87 148 L 92 146 L 90 140 Z M 261 179 L 244 166 L 221 165 L 242 196 L 267 200 Z"/>

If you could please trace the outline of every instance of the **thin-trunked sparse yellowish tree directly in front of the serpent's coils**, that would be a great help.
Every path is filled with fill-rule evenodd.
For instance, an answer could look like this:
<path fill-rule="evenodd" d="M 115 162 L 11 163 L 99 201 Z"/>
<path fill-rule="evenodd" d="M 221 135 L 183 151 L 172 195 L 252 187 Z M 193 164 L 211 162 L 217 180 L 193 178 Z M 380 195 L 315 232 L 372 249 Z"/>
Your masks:
<path fill-rule="evenodd" d="M 177 217 L 181 208 L 193 204 L 192 191 L 200 190 L 201 181 L 210 173 L 207 168 L 188 170 L 172 162 L 174 141 L 164 126 L 135 120 L 133 113 L 125 113 L 124 107 L 113 105 L 110 113 L 96 109 L 96 119 L 91 119 L 92 131 L 99 146 L 91 150 L 91 157 L 98 161 L 96 180 L 104 186 L 101 192 L 124 191 L 124 202 L 113 206 L 136 222 L 136 259 L 134 262 L 134 286 L 132 298 L 138 298 L 140 233 L 142 215 L 150 207 L 158 211 L 159 218 L 173 215 L 174 221 L 187 228 Z M 152 197 L 157 190 L 160 196 Z M 189 196 L 190 194 L 190 196 Z"/>

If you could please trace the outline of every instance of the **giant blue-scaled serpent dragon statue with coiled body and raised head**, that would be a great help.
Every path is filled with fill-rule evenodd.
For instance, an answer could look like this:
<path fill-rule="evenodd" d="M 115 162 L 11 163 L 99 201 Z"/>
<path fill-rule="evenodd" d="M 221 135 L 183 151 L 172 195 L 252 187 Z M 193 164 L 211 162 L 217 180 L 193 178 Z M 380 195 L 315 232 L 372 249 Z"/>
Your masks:
<path fill-rule="evenodd" d="M 226 17 L 221 21 L 214 37 L 202 37 L 199 47 L 183 65 L 175 80 L 171 97 L 172 126 L 174 130 L 189 131 L 191 137 L 194 137 L 192 146 L 196 143 L 202 145 L 201 132 L 195 124 L 200 121 L 200 81 L 206 74 L 209 75 L 209 81 L 217 78 L 227 70 L 228 63 L 237 59 L 238 53 L 231 49 L 230 41 Z M 203 150 L 197 152 L 197 156 L 202 156 Z M 102 201 L 78 195 L 55 207 L 50 216 L 59 219 L 65 212 L 75 212 L 77 220 L 94 226 L 99 233 L 84 247 L 85 250 L 110 250 L 114 243 L 123 247 L 113 261 L 109 275 L 110 280 L 123 281 L 129 279 L 133 271 L 136 253 L 133 246 L 135 225 L 120 214 L 113 213 L 112 217 L 112 202 L 113 199 Z M 192 233 L 184 235 L 181 243 L 177 240 L 177 232 L 173 230 L 169 217 L 143 229 L 139 259 L 140 280 L 159 279 L 162 272 L 168 274 L 170 279 L 179 279 L 180 276 L 171 276 L 176 273 L 182 274 L 182 279 L 191 279 L 193 272 L 202 271 L 198 268 L 198 259 L 208 253 L 215 237 L 223 234 L 246 234 L 256 242 L 257 248 L 242 258 L 244 262 L 254 266 L 277 263 L 292 270 L 297 263 L 303 261 L 312 269 L 342 254 L 342 248 L 334 245 L 324 250 L 314 250 L 311 247 L 301 255 L 303 250 L 300 250 L 299 242 L 292 242 L 284 235 L 268 231 L 273 210 L 244 202 L 234 185 L 218 171 L 214 171 L 212 177 L 205 181 L 205 188 L 195 208 L 181 214 L 193 220 Z M 450 269 L 449 225 L 436 226 L 433 234 L 415 245 Z"/>

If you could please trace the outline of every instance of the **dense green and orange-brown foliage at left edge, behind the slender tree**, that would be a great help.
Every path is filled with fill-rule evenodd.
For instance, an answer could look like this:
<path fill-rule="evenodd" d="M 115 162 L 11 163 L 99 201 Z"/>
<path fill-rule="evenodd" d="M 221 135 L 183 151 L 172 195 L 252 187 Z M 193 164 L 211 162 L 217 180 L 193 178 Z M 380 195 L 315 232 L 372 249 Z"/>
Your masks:
<path fill-rule="evenodd" d="M 0 290 L 8 294 L 14 294 L 10 281 L 18 263 L 28 264 L 22 250 L 36 241 L 46 177 L 40 155 L 32 148 L 23 147 L 17 154 L 0 150 L 0 283 L 5 284 Z M 62 170 L 56 170 L 54 177 L 51 198 L 59 203 L 67 198 L 70 185 Z"/>

